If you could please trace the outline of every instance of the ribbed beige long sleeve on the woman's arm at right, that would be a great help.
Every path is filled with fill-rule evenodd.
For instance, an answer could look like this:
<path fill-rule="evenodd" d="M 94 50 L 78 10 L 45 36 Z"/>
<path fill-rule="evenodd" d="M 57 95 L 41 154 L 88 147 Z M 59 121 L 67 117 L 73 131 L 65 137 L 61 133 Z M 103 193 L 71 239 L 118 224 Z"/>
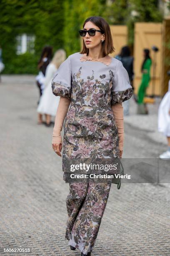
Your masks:
<path fill-rule="evenodd" d="M 123 150 L 124 142 L 124 124 L 123 124 L 123 106 L 122 102 L 111 106 L 117 124 L 119 134 L 119 149 Z"/>

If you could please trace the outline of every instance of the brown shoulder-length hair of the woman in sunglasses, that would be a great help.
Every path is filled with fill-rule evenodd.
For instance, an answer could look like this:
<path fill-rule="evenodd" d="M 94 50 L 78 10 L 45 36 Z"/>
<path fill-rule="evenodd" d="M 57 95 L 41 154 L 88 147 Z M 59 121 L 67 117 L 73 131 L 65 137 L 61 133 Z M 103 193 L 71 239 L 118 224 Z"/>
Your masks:
<path fill-rule="evenodd" d="M 113 51 L 115 51 L 115 48 L 113 46 L 110 26 L 107 23 L 107 21 L 100 16 L 91 16 L 85 20 L 82 28 L 84 28 L 85 23 L 87 23 L 87 21 L 91 21 L 92 23 L 94 23 L 97 27 L 100 28 L 102 33 L 105 34 L 105 40 L 102 42 L 102 55 L 106 56 L 112 53 Z M 83 46 L 82 46 L 82 50 L 80 51 L 80 54 L 86 53 L 88 55 L 89 49 L 85 46 L 85 42 L 83 39 L 82 39 L 82 45 Z"/>

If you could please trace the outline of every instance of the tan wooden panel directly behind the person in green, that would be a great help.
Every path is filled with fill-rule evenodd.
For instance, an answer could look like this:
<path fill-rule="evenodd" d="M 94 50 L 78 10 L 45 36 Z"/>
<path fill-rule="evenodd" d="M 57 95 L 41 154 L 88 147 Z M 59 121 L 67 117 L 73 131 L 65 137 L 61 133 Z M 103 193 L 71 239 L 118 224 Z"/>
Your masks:
<path fill-rule="evenodd" d="M 162 73 L 162 23 L 135 23 L 135 40 L 134 40 L 134 87 L 135 93 L 138 92 L 142 73 L 140 71 L 143 62 L 143 49 L 150 49 L 150 56 L 153 64 L 151 67 L 151 80 L 147 88 L 147 95 L 161 95 L 161 73 Z M 155 53 L 152 46 L 157 46 L 159 51 Z M 154 56 L 155 54 L 155 56 Z M 156 57 L 156 59 L 154 58 Z M 155 61 L 154 61 L 155 59 Z M 155 66 L 155 75 L 153 69 Z M 154 81 L 155 79 L 155 81 Z M 153 86 L 155 85 L 155 86 Z"/>

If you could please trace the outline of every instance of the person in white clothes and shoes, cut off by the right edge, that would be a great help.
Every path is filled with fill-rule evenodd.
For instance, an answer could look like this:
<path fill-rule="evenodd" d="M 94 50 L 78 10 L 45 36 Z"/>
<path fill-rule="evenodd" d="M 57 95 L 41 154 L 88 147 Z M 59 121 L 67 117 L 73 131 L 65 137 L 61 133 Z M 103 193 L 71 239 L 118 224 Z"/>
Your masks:
<path fill-rule="evenodd" d="M 168 72 L 170 76 L 170 71 Z M 165 93 L 158 109 L 158 131 L 162 132 L 168 141 L 167 151 L 160 154 L 161 159 L 170 159 L 170 80 L 168 83 L 168 92 Z"/>

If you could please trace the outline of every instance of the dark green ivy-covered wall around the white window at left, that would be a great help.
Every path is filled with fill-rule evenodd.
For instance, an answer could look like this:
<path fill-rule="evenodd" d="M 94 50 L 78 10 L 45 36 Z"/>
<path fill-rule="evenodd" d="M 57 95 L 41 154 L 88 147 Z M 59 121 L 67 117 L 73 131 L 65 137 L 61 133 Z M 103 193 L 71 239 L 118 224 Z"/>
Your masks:
<path fill-rule="evenodd" d="M 1 0 L 0 10 L 3 73 L 36 74 L 42 48 L 51 45 L 55 51 L 63 46 L 62 0 Z M 16 54 L 15 38 L 22 33 L 35 35 L 35 54 Z"/>

